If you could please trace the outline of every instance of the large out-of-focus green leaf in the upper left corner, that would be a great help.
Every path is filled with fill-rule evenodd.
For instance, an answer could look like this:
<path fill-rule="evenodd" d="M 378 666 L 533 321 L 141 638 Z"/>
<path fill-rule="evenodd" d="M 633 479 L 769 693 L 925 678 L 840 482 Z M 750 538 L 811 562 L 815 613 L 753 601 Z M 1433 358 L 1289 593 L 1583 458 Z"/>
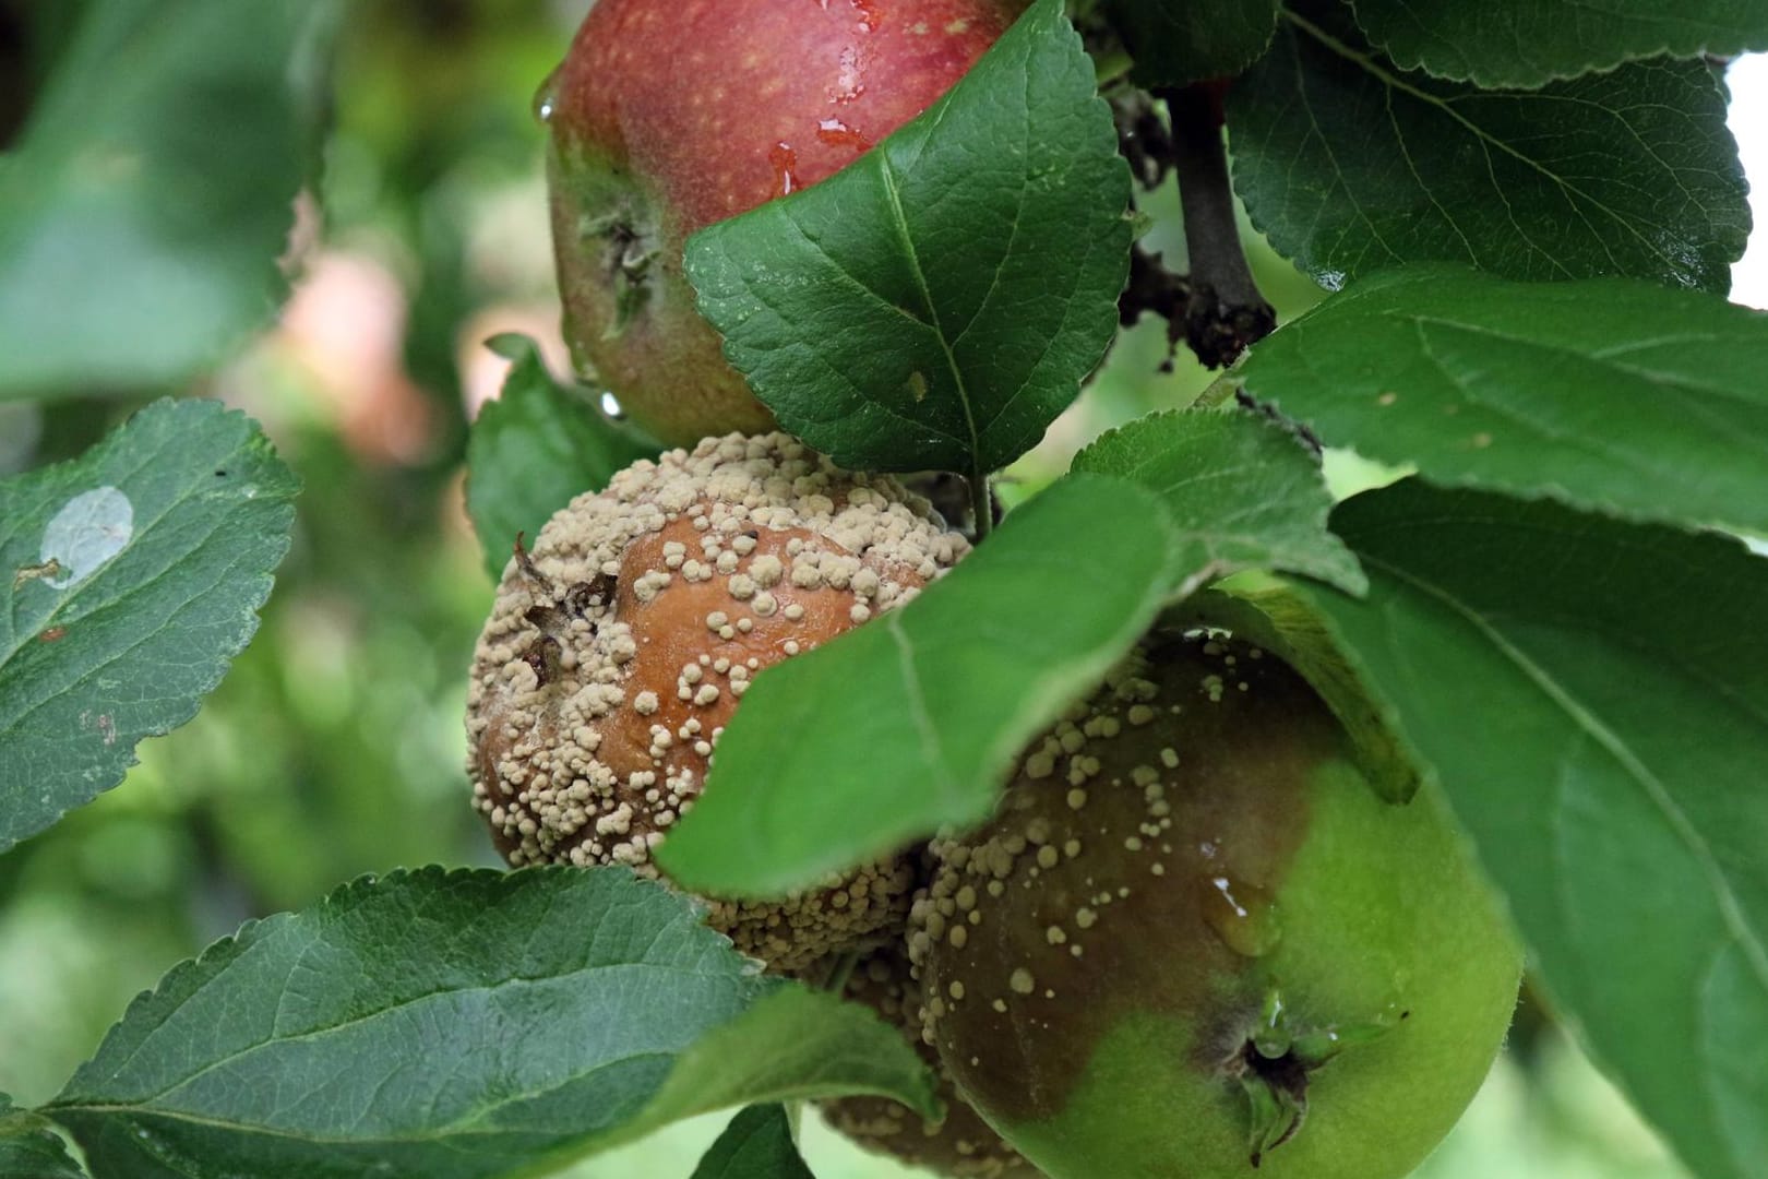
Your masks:
<path fill-rule="evenodd" d="M 271 320 L 334 18 L 85 5 L 0 156 L 0 399 L 180 382 Z"/>

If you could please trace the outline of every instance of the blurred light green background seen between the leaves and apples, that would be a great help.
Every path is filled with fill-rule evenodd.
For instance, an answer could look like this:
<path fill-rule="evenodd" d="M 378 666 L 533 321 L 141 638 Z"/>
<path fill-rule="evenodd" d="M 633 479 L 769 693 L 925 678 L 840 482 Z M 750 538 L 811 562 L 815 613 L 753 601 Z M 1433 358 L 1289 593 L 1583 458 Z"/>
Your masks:
<path fill-rule="evenodd" d="M 0 0 L 0 148 L 16 147 L 87 7 Z M 357 0 L 339 23 L 318 88 L 329 122 L 290 217 L 293 293 L 269 331 L 177 391 L 248 410 L 302 475 L 293 551 L 258 638 L 202 714 L 141 746 L 120 788 L 0 856 L 0 1091 L 21 1103 L 50 1098 L 136 992 L 242 921 L 366 871 L 495 863 L 461 769 L 465 670 L 492 596 L 461 456 L 506 366 L 486 338 L 527 332 L 566 368 L 530 95 L 585 9 Z M 1146 210 L 1147 246 L 1183 270 L 1170 182 Z M 1284 318 L 1321 297 L 1268 249 L 1254 265 Z M 64 322 L 74 343 L 103 331 L 72 309 Z M 1124 332 L 1004 493 L 1024 497 L 1100 430 L 1185 405 L 1209 380 L 1185 352 L 1170 371 L 1165 361 L 1163 323 Z M 69 392 L 85 391 L 0 401 L 0 475 L 78 454 L 166 389 Z M 686 1177 L 720 1121 L 571 1174 Z M 804 1137 L 820 1179 L 911 1174 L 813 1119 Z M 1681 1172 L 1531 999 L 1420 1174 Z"/>

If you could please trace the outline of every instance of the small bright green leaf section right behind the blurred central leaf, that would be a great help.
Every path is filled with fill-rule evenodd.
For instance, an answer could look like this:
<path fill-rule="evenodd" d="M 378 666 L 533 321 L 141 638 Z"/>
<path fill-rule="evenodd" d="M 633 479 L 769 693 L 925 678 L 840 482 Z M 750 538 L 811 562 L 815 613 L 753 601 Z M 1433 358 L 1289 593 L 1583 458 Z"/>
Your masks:
<path fill-rule="evenodd" d="M 1287 569 L 1351 594 L 1367 585 L 1356 557 L 1326 529 L 1331 495 L 1319 463 L 1276 422 L 1241 412 L 1151 414 L 1100 437 L 1075 470 L 1158 493 L 1185 536 L 1186 569 Z"/>

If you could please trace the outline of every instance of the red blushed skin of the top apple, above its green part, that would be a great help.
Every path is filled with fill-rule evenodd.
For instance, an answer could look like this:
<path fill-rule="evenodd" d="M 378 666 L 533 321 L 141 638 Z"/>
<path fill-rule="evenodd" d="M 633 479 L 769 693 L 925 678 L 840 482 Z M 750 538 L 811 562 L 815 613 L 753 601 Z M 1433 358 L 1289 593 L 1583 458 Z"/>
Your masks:
<path fill-rule="evenodd" d="M 926 110 L 1011 16 L 994 0 L 599 0 L 553 120 L 658 186 L 686 233 L 852 163 Z M 826 136 L 824 120 L 850 133 Z"/>

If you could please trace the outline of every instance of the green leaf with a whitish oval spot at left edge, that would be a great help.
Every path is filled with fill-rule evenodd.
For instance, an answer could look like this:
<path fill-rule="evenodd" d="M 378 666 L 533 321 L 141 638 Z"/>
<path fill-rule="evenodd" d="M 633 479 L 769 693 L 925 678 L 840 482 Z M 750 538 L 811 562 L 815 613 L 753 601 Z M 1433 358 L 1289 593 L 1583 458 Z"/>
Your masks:
<path fill-rule="evenodd" d="M 214 401 L 159 401 L 0 483 L 0 850 L 196 714 L 258 628 L 297 486 Z"/>

